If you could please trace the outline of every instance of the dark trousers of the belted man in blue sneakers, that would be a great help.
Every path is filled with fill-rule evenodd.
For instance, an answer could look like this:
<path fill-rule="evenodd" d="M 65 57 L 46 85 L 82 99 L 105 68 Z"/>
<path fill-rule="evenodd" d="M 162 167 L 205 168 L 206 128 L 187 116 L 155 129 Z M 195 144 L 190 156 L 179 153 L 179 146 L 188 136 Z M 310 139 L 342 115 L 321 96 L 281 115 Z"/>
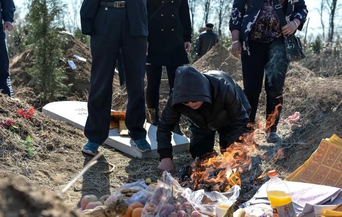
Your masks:
<path fill-rule="evenodd" d="M 126 126 L 132 139 L 146 137 L 144 77 L 147 37 L 131 36 L 126 8 L 99 7 L 90 38 L 91 77 L 85 136 L 103 143 L 109 132 L 112 83 L 121 48 L 128 93 Z"/>

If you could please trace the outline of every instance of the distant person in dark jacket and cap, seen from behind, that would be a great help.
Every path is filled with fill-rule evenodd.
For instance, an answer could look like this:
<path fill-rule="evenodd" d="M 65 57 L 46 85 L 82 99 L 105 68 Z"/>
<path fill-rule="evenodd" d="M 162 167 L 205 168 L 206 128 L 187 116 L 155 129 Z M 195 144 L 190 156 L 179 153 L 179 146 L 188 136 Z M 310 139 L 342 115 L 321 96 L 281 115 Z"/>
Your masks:
<path fill-rule="evenodd" d="M 207 30 L 202 32 L 196 40 L 196 53 L 198 58 L 205 55 L 217 42 L 218 35 L 214 32 L 214 24 L 207 23 Z"/>

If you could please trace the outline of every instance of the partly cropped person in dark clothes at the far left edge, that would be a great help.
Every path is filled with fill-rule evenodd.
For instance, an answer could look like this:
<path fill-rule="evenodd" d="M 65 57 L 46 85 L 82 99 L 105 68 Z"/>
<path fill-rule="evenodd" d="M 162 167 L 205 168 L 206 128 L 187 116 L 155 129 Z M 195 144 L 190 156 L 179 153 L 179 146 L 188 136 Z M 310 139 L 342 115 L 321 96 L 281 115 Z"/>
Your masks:
<path fill-rule="evenodd" d="M 12 31 L 16 10 L 13 0 L 0 0 L 0 92 L 13 97 L 5 30 Z M 2 20 L 4 23 L 2 24 Z"/>

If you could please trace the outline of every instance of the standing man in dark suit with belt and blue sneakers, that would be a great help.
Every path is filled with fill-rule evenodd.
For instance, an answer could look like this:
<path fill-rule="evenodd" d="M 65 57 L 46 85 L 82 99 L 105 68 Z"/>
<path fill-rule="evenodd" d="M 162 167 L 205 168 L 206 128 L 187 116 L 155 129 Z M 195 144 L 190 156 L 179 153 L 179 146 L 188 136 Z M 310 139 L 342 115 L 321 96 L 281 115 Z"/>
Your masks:
<path fill-rule="evenodd" d="M 84 0 L 81 7 L 82 33 L 90 35 L 92 55 L 88 118 L 82 151 L 95 155 L 108 137 L 112 83 L 121 49 L 128 103 L 125 123 L 130 144 L 150 151 L 146 140 L 144 77 L 147 50 L 146 0 Z"/>

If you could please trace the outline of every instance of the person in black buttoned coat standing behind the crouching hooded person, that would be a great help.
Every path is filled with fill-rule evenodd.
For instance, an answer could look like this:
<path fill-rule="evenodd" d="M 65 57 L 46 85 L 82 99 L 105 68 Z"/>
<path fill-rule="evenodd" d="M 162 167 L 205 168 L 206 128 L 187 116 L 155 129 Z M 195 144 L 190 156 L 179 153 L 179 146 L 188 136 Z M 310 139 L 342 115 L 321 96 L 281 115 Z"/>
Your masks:
<path fill-rule="evenodd" d="M 192 28 L 188 0 L 147 0 L 149 17 L 149 49 L 147 56 L 146 103 L 150 121 L 159 120 L 159 87 L 162 66 L 166 66 L 171 89 L 176 69 L 189 63 Z M 182 134 L 179 124 L 175 133 Z"/>

